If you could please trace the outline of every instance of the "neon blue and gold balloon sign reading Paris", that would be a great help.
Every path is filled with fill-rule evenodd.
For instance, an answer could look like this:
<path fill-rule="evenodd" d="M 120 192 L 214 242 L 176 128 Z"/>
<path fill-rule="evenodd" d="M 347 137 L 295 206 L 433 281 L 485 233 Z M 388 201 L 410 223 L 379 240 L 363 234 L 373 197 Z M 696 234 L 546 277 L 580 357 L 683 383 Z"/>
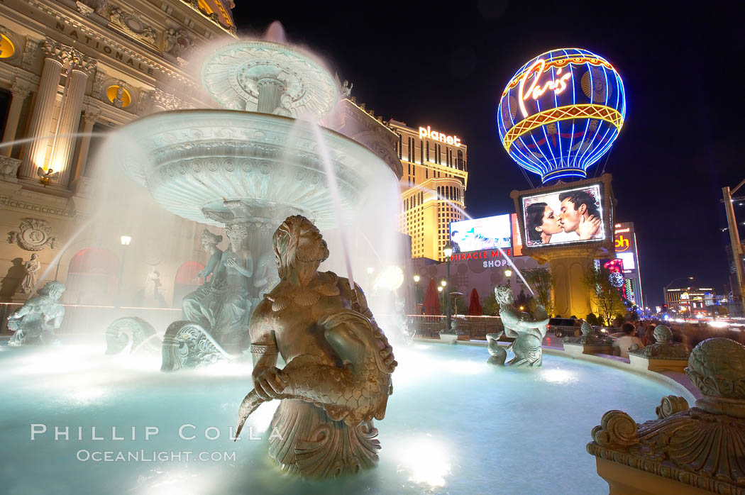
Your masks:
<path fill-rule="evenodd" d="M 526 63 L 499 101 L 504 149 L 541 176 L 586 178 L 624 126 L 624 83 L 603 57 L 581 48 L 547 51 Z"/>

